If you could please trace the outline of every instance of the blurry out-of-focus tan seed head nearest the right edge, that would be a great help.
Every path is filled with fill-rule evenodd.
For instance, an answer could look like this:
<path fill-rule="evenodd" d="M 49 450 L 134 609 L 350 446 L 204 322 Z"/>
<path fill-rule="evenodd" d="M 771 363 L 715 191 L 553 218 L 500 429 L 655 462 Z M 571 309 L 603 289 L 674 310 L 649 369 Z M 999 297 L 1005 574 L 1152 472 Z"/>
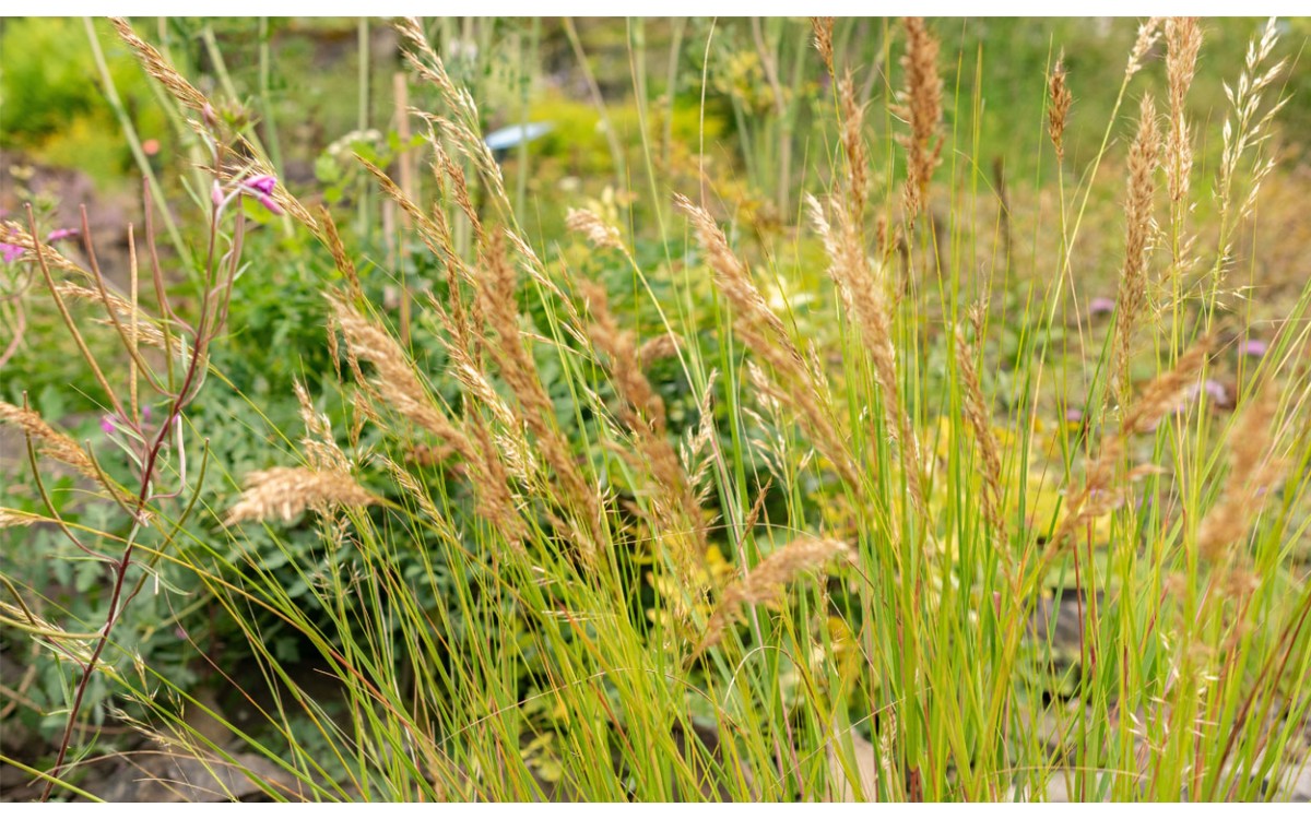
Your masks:
<path fill-rule="evenodd" d="M 1222 560 L 1247 533 L 1283 477 L 1286 464 L 1274 456 L 1277 410 L 1278 396 L 1266 387 L 1235 427 L 1224 498 L 1206 512 L 1198 528 L 1197 543 L 1206 560 Z"/>

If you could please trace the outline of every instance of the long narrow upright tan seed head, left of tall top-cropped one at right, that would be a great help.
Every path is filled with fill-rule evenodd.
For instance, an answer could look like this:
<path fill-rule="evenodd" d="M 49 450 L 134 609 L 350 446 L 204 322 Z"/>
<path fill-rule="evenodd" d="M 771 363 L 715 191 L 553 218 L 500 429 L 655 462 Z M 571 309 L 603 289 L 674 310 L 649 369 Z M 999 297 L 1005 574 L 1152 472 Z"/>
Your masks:
<path fill-rule="evenodd" d="M 1147 259 L 1151 252 L 1152 204 L 1156 197 L 1156 156 L 1160 134 L 1156 106 L 1145 94 L 1139 107 L 1138 136 L 1129 152 L 1129 194 L 1125 199 L 1125 266 L 1120 275 L 1116 305 L 1116 377 L 1120 389 L 1129 385 L 1129 354 L 1133 335 L 1142 318 L 1147 295 Z"/>

